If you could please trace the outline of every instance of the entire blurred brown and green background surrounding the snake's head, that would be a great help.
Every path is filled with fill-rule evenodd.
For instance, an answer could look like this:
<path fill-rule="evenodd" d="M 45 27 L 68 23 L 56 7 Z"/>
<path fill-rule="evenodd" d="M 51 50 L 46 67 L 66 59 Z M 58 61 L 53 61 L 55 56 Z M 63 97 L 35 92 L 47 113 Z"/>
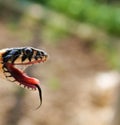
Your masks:
<path fill-rule="evenodd" d="M 120 125 L 119 0 L 0 0 L 0 49 L 49 54 L 26 69 L 37 91 L 0 79 L 0 125 Z"/>

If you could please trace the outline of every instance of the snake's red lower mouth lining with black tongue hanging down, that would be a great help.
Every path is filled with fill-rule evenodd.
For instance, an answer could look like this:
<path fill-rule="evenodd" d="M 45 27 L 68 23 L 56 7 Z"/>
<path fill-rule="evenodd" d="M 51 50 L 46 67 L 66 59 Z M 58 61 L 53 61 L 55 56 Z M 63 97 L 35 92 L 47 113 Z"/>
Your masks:
<path fill-rule="evenodd" d="M 5 66 L 7 70 L 10 72 L 11 76 L 14 77 L 15 80 L 20 83 L 20 85 L 24 85 L 24 87 L 32 88 L 35 90 L 36 88 L 38 89 L 39 97 L 40 97 L 40 105 L 41 105 L 42 104 L 42 92 L 39 86 L 40 81 L 36 78 L 27 76 L 27 74 L 25 74 L 20 69 L 17 69 L 11 63 L 6 63 Z M 40 107 L 40 105 L 38 106 L 38 108 Z"/>

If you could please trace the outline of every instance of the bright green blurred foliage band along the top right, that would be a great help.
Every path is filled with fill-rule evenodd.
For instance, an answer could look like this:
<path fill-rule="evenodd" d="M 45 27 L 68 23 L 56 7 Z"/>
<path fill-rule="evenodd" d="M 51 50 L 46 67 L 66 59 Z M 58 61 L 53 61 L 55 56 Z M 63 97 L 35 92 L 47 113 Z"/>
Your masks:
<path fill-rule="evenodd" d="M 36 0 L 36 2 L 60 11 L 78 21 L 99 26 L 109 33 L 120 34 L 119 6 L 103 4 L 97 0 Z"/>

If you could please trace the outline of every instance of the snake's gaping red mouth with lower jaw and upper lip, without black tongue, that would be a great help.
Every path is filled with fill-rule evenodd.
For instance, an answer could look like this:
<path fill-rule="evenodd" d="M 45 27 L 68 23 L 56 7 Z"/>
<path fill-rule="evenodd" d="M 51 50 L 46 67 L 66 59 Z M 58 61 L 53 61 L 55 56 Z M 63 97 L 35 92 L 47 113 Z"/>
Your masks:
<path fill-rule="evenodd" d="M 31 66 L 33 64 L 45 62 L 47 56 L 43 56 L 38 60 L 25 61 L 25 62 L 14 62 L 14 64 L 7 62 L 3 65 L 3 71 L 6 78 L 11 82 L 16 82 L 24 88 L 36 90 L 36 84 L 40 84 L 39 80 L 28 76 L 23 70 L 18 68 L 18 66 Z"/>

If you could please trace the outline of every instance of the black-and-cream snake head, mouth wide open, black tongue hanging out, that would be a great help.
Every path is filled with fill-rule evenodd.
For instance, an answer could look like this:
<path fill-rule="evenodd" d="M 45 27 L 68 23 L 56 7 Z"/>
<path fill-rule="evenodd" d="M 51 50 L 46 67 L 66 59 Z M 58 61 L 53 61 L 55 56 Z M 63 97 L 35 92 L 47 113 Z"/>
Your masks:
<path fill-rule="evenodd" d="M 11 48 L 2 55 L 3 57 L 3 73 L 5 77 L 17 84 L 23 86 L 24 88 L 39 91 L 40 105 L 42 104 L 42 92 L 40 88 L 40 81 L 34 77 L 28 76 L 23 70 L 17 68 L 19 65 L 29 66 L 31 64 L 37 64 L 45 62 L 48 55 L 39 49 L 32 47 L 25 48 Z M 40 107 L 38 106 L 38 108 Z"/>

